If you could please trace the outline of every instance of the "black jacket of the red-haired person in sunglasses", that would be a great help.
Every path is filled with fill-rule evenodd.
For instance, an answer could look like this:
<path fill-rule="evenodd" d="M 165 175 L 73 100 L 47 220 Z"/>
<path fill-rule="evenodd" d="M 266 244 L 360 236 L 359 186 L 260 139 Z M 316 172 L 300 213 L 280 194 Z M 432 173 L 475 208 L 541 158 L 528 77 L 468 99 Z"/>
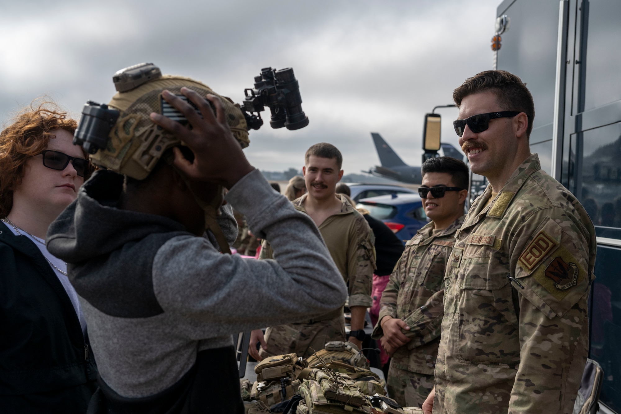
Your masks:
<path fill-rule="evenodd" d="M 65 288 L 0 222 L 0 413 L 84 413 L 97 369 Z"/>

